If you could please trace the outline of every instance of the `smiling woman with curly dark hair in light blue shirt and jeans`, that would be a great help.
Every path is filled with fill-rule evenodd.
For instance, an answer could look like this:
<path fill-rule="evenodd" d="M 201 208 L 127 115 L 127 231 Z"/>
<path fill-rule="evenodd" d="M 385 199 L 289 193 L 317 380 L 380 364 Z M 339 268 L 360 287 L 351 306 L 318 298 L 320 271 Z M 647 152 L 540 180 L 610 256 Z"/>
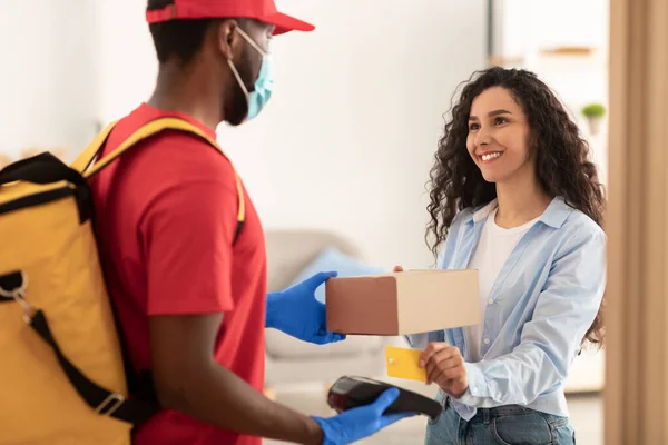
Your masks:
<path fill-rule="evenodd" d="M 477 269 L 482 324 L 409 336 L 446 408 L 428 444 L 573 444 L 563 385 L 602 342 L 602 186 L 536 75 L 491 68 L 462 90 L 431 171 L 432 250 Z M 452 407 L 452 409 L 448 409 Z"/>

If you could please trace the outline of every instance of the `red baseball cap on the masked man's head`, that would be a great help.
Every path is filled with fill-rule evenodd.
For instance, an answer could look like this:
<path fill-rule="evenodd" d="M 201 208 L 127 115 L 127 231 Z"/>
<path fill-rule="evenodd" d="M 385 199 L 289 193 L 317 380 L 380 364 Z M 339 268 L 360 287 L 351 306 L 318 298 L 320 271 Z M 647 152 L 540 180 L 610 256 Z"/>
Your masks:
<path fill-rule="evenodd" d="M 247 18 L 276 27 L 274 34 L 313 31 L 315 27 L 276 10 L 274 0 L 173 0 L 164 9 L 146 11 L 146 21 L 159 23 L 179 19 Z"/>

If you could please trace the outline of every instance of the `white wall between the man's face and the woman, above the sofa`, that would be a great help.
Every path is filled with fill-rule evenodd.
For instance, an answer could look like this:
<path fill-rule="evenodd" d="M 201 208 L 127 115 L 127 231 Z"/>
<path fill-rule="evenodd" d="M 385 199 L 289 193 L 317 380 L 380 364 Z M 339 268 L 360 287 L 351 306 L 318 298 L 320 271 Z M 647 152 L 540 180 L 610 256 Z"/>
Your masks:
<path fill-rule="evenodd" d="M 484 63 L 484 1 L 284 1 L 276 95 L 223 132 L 267 227 L 325 227 L 387 267 L 424 267 L 424 184 L 455 86 Z"/>

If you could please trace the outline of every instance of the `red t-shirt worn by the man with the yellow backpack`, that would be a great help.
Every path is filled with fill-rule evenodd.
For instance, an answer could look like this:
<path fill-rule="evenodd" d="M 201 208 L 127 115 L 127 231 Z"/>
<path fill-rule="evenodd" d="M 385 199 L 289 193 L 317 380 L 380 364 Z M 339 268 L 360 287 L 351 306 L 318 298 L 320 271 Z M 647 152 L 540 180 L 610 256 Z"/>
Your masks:
<path fill-rule="evenodd" d="M 163 116 L 141 105 L 121 119 L 109 152 Z M 196 136 L 165 131 L 131 148 L 92 181 L 100 256 L 135 370 L 150 369 L 148 317 L 225 313 L 215 359 L 258 392 L 264 384 L 266 255 L 248 195 L 246 221 L 233 246 L 238 195 L 232 164 Z M 174 352 L 178 354 L 178 352 Z M 259 445 L 161 411 L 135 435 L 138 445 Z"/>

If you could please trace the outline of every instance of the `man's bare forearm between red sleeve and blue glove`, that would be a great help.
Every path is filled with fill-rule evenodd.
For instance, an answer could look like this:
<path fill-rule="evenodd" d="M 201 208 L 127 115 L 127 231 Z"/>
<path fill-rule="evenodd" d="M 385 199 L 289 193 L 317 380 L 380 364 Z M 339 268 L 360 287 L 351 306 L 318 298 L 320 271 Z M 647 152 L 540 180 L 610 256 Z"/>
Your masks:
<path fill-rule="evenodd" d="M 222 314 L 150 318 L 154 379 L 163 406 L 224 429 L 322 444 L 313 418 L 271 402 L 215 363 L 212 352 L 220 320 Z"/>

